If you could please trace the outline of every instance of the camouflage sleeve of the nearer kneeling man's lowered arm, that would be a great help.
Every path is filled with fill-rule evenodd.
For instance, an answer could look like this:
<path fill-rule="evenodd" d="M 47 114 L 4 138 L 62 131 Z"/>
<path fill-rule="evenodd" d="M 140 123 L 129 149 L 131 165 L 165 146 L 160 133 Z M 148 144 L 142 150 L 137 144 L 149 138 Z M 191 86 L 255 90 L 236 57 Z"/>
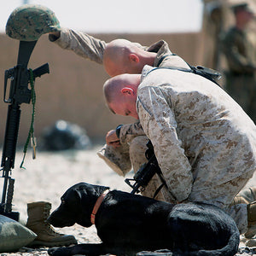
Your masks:
<path fill-rule="evenodd" d="M 154 146 L 169 192 L 177 202 L 186 200 L 191 193 L 193 177 L 189 160 L 177 137 L 172 108 L 160 88 L 155 87 L 144 87 L 139 91 L 137 106 L 143 131 Z"/>

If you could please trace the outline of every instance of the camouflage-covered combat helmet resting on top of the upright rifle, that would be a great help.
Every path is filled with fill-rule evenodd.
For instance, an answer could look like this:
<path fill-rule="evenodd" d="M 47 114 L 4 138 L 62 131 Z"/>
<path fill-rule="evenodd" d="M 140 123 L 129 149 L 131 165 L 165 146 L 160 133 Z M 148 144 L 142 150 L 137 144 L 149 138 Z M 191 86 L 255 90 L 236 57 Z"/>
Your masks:
<path fill-rule="evenodd" d="M 38 4 L 24 4 L 9 15 L 5 32 L 20 41 L 36 41 L 41 35 L 60 29 L 60 22 L 52 10 Z"/>

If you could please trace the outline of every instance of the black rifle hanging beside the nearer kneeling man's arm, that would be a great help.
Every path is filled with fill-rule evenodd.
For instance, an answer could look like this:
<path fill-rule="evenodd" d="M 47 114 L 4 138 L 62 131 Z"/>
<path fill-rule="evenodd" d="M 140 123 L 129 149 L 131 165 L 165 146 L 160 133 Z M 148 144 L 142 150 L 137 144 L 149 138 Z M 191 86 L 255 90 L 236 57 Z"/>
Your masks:
<path fill-rule="evenodd" d="M 154 155 L 154 148 L 150 140 L 147 143 L 147 147 L 148 149 L 146 150 L 145 156 L 148 162 L 139 168 L 133 178 L 125 178 L 125 183 L 132 188 L 131 195 L 134 195 L 135 193 L 143 192 L 149 181 L 152 179 L 152 177 L 154 177 L 154 174 L 157 174 L 160 177 L 162 184 L 158 189 L 156 189 L 154 193 L 155 197 L 159 193 L 160 189 L 163 186 L 166 186 L 166 181 L 162 176 L 162 172 Z M 131 183 L 131 181 L 134 183 Z"/>

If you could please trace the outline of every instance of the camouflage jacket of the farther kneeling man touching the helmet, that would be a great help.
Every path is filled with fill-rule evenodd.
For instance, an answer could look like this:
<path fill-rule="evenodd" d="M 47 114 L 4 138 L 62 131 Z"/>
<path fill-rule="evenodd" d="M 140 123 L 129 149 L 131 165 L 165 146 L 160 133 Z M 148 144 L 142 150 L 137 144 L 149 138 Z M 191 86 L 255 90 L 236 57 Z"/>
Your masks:
<path fill-rule="evenodd" d="M 108 44 L 105 41 L 93 38 L 84 32 L 76 32 L 67 28 L 61 28 L 60 38 L 55 38 L 54 36 L 49 35 L 49 40 L 58 44 L 62 49 L 73 50 L 77 55 L 89 59 L 90 61 L 96 61 L 100 64 L 102 64 L 104 49 Z M 182 58 L 172 54 L 168 44 L 163 40 L 160 40 L 149 47 L 138 43 L 134 44 L 137 44 L 138 47 L 142 47 L 150 52 L 157 53 L 154 60 L 154 67 L 189 68 Z M 129 143 L 132 138 L 139 135 L 144 135 L 139 122 L 136 124 L 123 125 L 120 130 L 120 141 L 121 143 Z"/>

